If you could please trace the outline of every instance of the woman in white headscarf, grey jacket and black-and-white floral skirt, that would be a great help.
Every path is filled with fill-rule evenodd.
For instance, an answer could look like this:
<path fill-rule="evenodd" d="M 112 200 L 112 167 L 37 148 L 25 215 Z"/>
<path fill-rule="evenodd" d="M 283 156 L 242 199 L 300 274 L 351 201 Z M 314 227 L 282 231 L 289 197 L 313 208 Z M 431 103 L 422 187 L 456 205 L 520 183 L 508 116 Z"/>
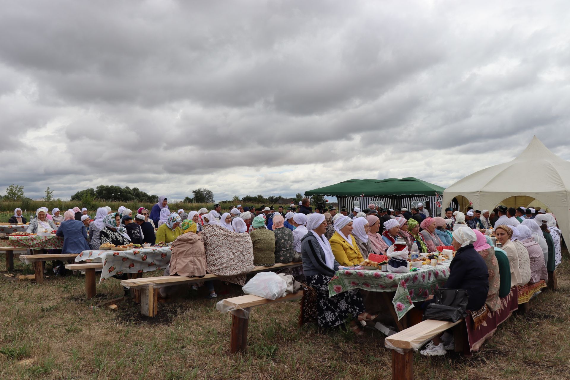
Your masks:
<path fill-rule="evenodd" d="M 348 216 L 345 218 L 350 220 Z M 364 304 L 359 291 L 352 290 L 338 293 L 334 297 L 328 296 L 328 283 L 335 275 L 339 263 L 335 260 L 331 244 L 324 237 L 326 228 L 327 222 L 323 214 L 307 215 L 307 234 L 302 238 L 300 250 L 307 285 L 314 289 L 317 295 L 317 324 L 320 328 L 332 328 L 344 324 L 347 317 L 351 316 L 351 330 L 357 335 L 363 335 L 354 319 L 364 319 Z M 302 309 L 304 307 L 303 304 Z"/>

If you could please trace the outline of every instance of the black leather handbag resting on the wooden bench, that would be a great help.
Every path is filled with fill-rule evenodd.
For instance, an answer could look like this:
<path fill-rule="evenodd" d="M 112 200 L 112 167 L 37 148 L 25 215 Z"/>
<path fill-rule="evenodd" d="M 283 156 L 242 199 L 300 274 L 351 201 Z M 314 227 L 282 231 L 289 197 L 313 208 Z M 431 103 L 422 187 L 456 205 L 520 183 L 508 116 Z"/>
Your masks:
<path fill-rule="evenodd" d="M 437 289 L 433 302 L 427 305 L 424 320 L 457 322 L 467 316 L 466 308 L 469 296 L 463 289 Z"/>

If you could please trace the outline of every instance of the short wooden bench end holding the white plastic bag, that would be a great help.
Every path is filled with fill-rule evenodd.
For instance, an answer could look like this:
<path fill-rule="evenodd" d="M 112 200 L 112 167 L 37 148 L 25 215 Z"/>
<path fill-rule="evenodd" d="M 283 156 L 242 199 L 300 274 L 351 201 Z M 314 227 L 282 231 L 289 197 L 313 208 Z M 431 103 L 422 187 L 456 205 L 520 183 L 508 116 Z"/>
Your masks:
<path fill-rule="evenodd" d="M 256 306 L 274 304 L 282 301 L 300 300 L 302 297 L 303 291 L 299 291 L 297 293 L 289 293 L 276 300 L 267 300 L 263 297 L 245 295 L 228 298 L 220 301 L 219 303 L 223 304 L 223 307 L 244 309 L 249 313 L 250 309 Z M 238 317 L 235 314 L 231 315 L 230 353 L 245 353 L 247 351 L 247 326 L 249 326 L 249 318 Z"/>

